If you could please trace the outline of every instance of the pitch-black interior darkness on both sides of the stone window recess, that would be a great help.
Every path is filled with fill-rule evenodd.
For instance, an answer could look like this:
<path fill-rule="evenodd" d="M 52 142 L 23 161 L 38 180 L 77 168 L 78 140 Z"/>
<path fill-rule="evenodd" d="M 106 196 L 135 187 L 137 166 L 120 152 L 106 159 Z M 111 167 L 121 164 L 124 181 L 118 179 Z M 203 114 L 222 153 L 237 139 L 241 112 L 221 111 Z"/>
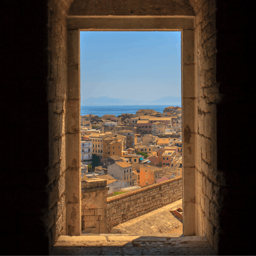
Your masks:
<path fill-rule="evenodd" d="M 49 165 L 47 2 L 1 3 L 2 255 L 49 255 L 42 220 Z M 228 185 L 221 191 L 218 255 L 255 255 L 253 10 L 246 1 L 217 1 L 218 170 Z"/>

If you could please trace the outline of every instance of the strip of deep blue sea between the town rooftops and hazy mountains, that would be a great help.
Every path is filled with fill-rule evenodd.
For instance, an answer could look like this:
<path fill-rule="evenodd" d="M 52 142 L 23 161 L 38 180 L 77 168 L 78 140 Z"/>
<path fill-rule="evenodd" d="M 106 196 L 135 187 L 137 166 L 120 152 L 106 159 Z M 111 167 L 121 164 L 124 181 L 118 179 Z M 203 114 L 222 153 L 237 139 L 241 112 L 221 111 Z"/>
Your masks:
<path fill-rule="evenodd" d="M 135 114 L 136 111 L 139 109 L 154 109 L 160 113 L 163 113 L 164 108 L 169 107 L 172 105 L 164 105 L 164 106 L 81 106 L 81 115 L 97 115 L 97 116 L 103 116 L 103 115 L 115 115 L 119 116 L 121 114 Z M 173 105 L 176 107 L 177 105 Z M 179 107 L 181 107 L 179 105 Z"/>

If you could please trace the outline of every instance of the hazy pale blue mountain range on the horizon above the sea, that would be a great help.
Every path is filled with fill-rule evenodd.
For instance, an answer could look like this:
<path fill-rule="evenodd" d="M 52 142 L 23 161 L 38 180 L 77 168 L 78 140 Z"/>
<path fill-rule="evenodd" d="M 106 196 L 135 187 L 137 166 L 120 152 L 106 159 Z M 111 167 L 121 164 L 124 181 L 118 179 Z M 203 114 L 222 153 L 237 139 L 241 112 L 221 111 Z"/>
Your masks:
<path fill-rule="evenodd" d="M 181 97 L 165 96 L 157 100 L 131 100 L 109 97 L 90 97 L 81 100 L 81 106 L 129 106 L 129 105 L 181 105 Z"/>

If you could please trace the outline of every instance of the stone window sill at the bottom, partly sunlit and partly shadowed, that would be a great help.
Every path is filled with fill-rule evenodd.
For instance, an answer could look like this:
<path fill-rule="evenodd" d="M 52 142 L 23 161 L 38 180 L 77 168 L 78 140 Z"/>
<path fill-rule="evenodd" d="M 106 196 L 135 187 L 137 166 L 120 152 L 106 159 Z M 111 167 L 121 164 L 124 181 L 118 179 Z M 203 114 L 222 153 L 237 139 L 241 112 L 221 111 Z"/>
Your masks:
<path fill-rule="evenodd" d="M 80 255 L 169 255 L 215 256 L 204 236 L 147 235 L 132 234 L 83 234 L 81 236 L 60 236 L 50 256 Z"/>

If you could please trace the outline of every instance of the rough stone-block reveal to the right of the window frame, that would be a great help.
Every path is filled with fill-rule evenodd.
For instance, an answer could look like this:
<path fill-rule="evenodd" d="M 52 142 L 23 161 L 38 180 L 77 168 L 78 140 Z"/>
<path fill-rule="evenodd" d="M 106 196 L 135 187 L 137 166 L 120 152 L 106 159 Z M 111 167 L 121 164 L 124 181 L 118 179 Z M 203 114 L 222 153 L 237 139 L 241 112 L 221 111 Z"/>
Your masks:
<path fill-rule="evenodd" d="M 206 236 L 218 252 L 220 187 L 217 170 L 216 105 L 220 101 L 216 80 L 216 1 L 190 0 L 196 13 L 195 29 L 195 203 L 196 235 Z M 185 186 L 186 187 L 186 186 Z"/>

